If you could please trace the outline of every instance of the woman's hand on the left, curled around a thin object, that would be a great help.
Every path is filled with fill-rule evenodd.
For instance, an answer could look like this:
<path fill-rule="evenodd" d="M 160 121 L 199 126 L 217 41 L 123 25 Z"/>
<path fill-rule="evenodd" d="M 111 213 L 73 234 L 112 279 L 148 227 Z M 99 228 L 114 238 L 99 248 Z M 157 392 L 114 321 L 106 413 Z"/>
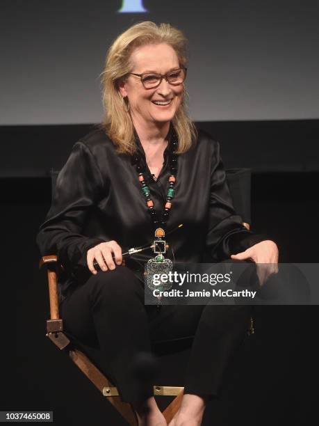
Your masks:
<path fill-rule="evenodd" d="M 112 255 L 114 255 L 117 265 L 122 265 L 122 263 L 124 263 L 122 258 L 122 248 L 114 240 L 97 244 L 97 246 L 90 248 L 86 254 L 88 269 L 90 269 L 92 274 L 97 274 L 97 270 L 93 265 L 94 260 L 96 260 L 99 264 L 101 271 L 115 269 L 115 263 Z"/>

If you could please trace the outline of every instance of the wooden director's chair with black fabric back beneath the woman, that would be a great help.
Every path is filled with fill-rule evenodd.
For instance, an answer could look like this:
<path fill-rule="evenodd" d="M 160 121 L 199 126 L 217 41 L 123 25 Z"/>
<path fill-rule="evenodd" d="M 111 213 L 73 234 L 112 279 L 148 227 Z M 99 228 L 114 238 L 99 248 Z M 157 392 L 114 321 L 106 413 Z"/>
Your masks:
<path fill-rule="evenodd" d="M 51 172 L 52 190 L 56 184 L 58 172 Z M 243 218 L 243 224 L 250 228 L 250 169 L 229 169 L 227 170 L 227 182 L 233 198 L 235 210 Z M 136 414 L 131 404 L 122 402 L 117 392 L 117 388 L 106 377 L 99 365 L 99 356 L 101 353 L 92 347 L 87 347 L 79 342 L 74 336 L 63 332 L 63 320 L 59 315 L 58 304 L 58 258 L 56 255 L 46 255 L 40 260 L 40 268 L 47 268 L 47 279 L 49 283 L 49 305 L 50 319 L 47 319 L 47 337 L 54 342 L 58 349 L 63 350 L 77 367 L 94 384 L 101 394 L 111 402 L 129 425 L 138 425 Z M 254 333 L 253 319 L 250 319 L 250 328 L 247 330 L 249 335 Z M 163 416 L 167 423 L 170 423 L 173 416 L 179 410 L 183 397 L 183 386 L 154 386 L 154 396 L 166 395 L 174 396 L 174 399 L 163 411 Z"/>

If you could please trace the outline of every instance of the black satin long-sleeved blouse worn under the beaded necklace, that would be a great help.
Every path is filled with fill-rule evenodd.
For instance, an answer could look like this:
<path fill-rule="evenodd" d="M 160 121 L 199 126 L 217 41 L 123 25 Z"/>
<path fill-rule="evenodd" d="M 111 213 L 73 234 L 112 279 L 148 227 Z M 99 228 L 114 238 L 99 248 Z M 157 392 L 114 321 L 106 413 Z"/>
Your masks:
<path fill-rule="evenodd" d="M 169 186 L 172 132 L 171 126 L 163 168 L 156 181 L 136 138 L 157 212 L 163 211 Z M 175 195 L 166 230 L 170 232 L 180 223 L 183 228 L 167 237 L 170 251 L 166 257 L 174 256 L 176 262 L 218 262 L 265 239 L 247 230 L 234 212 L 218 142 L 199 132 L 192 148 L 177 157 Z M 124 252 L 154 239 L 136 158 L 118 154 L 102 129 L 93 130 L 74 144 L 37 236 L 41 255 L 56 254 L 63 265 L 60 300 L 90 277 L 86 263 L 89 248 L 114 239 Z M 152 255 L 151 250 L 133 255 L 126 265 L 138 271 Z"/>

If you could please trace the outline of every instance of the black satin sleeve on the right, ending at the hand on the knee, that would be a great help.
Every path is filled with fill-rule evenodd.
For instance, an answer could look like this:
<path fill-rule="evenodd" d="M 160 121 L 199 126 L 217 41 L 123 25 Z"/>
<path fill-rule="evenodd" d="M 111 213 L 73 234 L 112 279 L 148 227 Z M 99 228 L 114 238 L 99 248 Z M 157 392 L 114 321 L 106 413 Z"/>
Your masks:
<path fill-rule="evenodd" d="M 242 219 L 234 211 L 220 157 L 220 145 L 214 141 L 211 161 L 211 197 L 209 203 L 208 233 L 206 247 L 213 261 L 227 260 L 231 254 L 240 253 L 265 239 L 247 230 Z"/>

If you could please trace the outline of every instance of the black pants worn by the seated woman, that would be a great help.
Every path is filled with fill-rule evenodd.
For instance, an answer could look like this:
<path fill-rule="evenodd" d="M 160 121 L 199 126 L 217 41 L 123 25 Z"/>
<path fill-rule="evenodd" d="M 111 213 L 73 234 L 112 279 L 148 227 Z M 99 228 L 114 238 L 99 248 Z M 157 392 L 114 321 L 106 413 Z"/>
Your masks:
<path fill-rule="evenodd" d="M 66 332 L 85 344 L 97 338 L 110 379 L 125 402 L 153 395 L 154 383 L 145 380 L 145 368 L 138 367 L 152 353 L 152 342 L 188 336 L 195 337 L 184 393 L 218 395 L 251 313 L 252 306 L 244 305 L 145 306 L 142 282 L 124 266 L 92 275 L 60 303 Z"/>

